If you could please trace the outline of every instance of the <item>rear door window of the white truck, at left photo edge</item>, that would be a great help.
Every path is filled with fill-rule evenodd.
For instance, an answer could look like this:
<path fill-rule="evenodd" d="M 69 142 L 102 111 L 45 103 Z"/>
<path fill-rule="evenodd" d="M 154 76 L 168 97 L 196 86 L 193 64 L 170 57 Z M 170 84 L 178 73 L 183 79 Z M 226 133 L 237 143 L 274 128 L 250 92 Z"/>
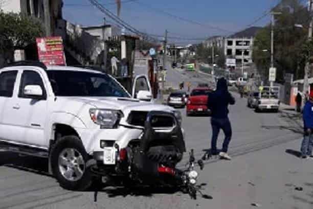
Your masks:
<path fill-rule="evenodd" d="M 5 71 L 0 74 L 0 97 L 12 97 L 17 71 Z"/>

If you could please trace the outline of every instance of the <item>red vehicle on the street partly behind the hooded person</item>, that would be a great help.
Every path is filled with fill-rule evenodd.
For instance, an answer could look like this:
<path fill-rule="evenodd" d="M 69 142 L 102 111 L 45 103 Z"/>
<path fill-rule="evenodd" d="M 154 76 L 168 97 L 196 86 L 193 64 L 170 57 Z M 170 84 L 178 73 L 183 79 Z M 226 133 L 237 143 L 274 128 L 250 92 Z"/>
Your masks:
<path fill-rule="evenodd" d="M 213 90 L 207 87 L 198 87 L 191 91 L 188 98 L 186 114 L 187 116 L 191 114 L 210 114 L 211 111 L 208 109 L 208 94 Z"/>

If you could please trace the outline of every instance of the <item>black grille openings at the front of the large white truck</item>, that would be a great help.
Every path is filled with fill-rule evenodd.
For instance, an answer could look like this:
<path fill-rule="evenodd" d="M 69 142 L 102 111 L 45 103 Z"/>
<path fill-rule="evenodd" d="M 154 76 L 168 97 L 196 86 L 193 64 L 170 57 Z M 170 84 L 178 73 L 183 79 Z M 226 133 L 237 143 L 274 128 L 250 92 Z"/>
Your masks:
<path fill-rule="evenodd" d="M 145 126 L 147 111 L 131 111 L 127 118 L 127 123 L 133 126 Z M 168 116 L 154 116 L 151 121 L 153 128 L 171 128 L 175 121 Z"/>

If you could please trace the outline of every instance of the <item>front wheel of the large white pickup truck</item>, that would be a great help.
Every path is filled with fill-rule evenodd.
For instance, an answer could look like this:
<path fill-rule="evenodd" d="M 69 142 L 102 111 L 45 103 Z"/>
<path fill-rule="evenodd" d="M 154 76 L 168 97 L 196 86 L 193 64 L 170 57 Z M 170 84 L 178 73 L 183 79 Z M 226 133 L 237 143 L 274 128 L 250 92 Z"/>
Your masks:
<path fill-rule="evenodd" d="M 63 136 L 51 149 L 51 168 L 61 187 L 67 190 L 83 191 L 92 184 L 92 173 L 86 168 L 90 156 L 80 139 Z"/>

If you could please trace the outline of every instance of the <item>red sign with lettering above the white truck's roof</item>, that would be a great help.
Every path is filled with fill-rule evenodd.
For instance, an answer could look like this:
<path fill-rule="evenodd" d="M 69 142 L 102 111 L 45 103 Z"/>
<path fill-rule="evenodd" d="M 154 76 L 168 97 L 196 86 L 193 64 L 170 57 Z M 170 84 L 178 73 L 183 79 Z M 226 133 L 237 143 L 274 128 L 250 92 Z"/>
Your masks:
<path fill-rule="evenodd" d="M 62 37 L 36 38 L 39 61 L 45 65 L 65 65 Z"/>

